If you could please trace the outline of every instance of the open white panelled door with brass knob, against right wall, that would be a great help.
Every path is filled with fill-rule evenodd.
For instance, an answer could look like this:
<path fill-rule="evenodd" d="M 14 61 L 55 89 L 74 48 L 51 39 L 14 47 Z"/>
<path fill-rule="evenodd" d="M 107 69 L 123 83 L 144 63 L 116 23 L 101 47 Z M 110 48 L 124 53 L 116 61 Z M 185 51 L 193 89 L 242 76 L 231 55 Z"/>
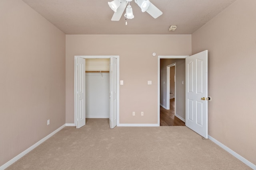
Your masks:
<path fill-rule="evenodd" d="M 186 58 L 186 126 L 208 139 L 208 50 Z"/>

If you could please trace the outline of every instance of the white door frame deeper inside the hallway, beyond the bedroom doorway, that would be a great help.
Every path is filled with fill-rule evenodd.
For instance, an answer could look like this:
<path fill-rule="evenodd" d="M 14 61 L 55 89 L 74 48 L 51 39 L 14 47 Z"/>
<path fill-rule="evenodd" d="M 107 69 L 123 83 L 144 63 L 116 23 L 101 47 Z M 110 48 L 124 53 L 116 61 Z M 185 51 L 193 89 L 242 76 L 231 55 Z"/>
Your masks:
<path fill-rule="evenodd" d="M 174 96 L 176 95 L 176 63 L 170 64 L 168 66 L 166 66 L 166 71 L 167 71 L 167 79 L 166 79 L 166 109 L 170 110 L 170 68 L 172 66 L 175 66 L 175 70 L 174 70 Z M 175 108 L 174 108 L 174 113 L 176 115 L 176 101 L 174 101 L 175 104 Z"/>

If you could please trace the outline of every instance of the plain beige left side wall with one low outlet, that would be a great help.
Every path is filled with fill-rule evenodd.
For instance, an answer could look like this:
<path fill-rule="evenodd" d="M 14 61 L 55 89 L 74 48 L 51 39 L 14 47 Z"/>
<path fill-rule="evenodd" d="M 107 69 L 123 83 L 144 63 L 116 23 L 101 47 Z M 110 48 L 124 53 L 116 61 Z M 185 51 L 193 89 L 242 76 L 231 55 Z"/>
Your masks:
<path fill-rule="evenodd" d="M 0 91 L 2 166 L 65 123 L 65 34 L 21 0 L 0 0 Z"/>

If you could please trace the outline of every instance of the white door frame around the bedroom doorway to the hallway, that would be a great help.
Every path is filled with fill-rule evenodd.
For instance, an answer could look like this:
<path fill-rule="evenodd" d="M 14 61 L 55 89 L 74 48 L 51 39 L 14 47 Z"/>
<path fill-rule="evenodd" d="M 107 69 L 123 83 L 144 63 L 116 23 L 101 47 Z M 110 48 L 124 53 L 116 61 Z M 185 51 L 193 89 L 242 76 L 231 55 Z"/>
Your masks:
<path fill-rule="evenodd" d="M 186 59 L 188 55 L 158 55 L 157 123 L 160 126 L 160 59 Z M 170 98 L 170 97 L 169 97 Z"/>

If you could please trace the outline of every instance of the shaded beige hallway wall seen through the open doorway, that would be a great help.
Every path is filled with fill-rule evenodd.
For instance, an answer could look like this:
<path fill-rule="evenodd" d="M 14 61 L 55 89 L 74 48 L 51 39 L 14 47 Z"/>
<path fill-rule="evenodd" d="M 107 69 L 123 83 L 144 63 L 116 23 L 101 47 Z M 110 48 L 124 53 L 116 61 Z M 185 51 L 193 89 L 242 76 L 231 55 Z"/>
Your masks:
<path fill-rule="evenodd" d="M 166 106 L 166 66 L 176 63 L 176 108 L 175 112 L 177 115 L 185 119 L 185 59 L 160 59 L 160 104 Z M 184 84 L 182 84 L 184 81 Z"/>

